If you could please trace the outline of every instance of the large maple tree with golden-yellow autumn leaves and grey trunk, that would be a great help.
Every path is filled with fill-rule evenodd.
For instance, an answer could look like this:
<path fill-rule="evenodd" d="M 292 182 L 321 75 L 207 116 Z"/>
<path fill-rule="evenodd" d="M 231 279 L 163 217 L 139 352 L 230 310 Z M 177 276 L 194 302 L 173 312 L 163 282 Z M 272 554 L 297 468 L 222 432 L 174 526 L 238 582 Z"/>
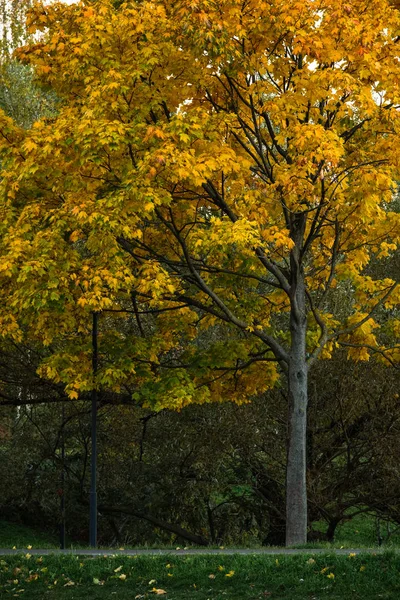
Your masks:
<path fill-rule="evenodd" d="M 400 358 L 398 281 L 368 271 L 400 239 L 399 11 L 99 1 L 28 25 L 18 58 L 60 102 L 29 129 L 0 118 L 4 335 L 49 346 L 71 397 L 93 385 L 92 311 L 96 385 L 135 401 L 244 402 L 282 376 L 303 543 L 310 367 L 337 344 Z"/>

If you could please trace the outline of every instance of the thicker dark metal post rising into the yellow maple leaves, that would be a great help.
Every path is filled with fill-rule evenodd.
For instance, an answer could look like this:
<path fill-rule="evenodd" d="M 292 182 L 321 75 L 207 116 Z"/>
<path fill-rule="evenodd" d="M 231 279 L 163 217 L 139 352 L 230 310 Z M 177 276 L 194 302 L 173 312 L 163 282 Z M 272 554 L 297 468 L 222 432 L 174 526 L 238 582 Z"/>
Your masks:
<path fill-rule="evenodd" d="M 98 313 L 93 312 L 92 325 L 92 457 L 91 457 L 91 483 L 90 483 L 90 546 L 97 547 L 97 390 L 96 374 L 98 366 L 97 346 Z"/>

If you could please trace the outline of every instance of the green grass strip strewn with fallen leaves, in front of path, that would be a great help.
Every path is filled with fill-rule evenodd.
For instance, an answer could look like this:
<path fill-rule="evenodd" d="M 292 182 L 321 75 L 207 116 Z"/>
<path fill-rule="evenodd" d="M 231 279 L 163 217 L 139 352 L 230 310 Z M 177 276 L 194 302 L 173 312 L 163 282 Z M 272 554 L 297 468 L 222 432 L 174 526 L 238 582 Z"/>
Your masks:
<path fill-rule="evenodd" d="M 0 598 L 363 600 L 400 597 L 400 556 L 6 556 Z"/>

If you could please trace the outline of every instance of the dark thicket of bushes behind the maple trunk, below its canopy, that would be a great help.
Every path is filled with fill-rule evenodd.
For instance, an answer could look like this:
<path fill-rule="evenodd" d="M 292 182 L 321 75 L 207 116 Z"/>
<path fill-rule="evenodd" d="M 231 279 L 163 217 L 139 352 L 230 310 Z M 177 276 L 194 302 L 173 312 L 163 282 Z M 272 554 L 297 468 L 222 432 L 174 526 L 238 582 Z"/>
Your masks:
<path fill-rule="evenodd" d="M 343 354 L 320 361 L 311 374 L 310 541 L 332 541 L 363 513 L 400 522 L 396 371 L 345 362 Z M 283 544 L 283 394 L 274 389 L 248 405 L 192 405 L 180 413 L 100 404 L 101 544 Z M 66 524 L 74 543 L 88 534 L 89 407 L 73 400 L 64 409 Z M 60 403 L 4 406 L 0 423 L 1 518 L 56 531 Z"/>

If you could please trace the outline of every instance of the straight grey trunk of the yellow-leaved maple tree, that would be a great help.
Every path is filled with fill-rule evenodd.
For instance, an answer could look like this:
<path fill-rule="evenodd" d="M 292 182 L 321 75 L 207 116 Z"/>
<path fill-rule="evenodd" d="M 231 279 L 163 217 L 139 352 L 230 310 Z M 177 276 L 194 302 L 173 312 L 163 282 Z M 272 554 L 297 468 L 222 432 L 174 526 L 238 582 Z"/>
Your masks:
<path fill-rule="evenodd" d="M 296 226 L 297 225 L 297 226 Z M 307 315 L 304 271 L 300 264 L 300 248 L 304 222 L 294 226 L 295 249 L 291 256 L 292 295 L 290 311 L 291 349 L 288 366 L 288 457 L 286 470 L 286 545 L 307 542 L 306 434 L 307 379 L 306 362 Z"/>

